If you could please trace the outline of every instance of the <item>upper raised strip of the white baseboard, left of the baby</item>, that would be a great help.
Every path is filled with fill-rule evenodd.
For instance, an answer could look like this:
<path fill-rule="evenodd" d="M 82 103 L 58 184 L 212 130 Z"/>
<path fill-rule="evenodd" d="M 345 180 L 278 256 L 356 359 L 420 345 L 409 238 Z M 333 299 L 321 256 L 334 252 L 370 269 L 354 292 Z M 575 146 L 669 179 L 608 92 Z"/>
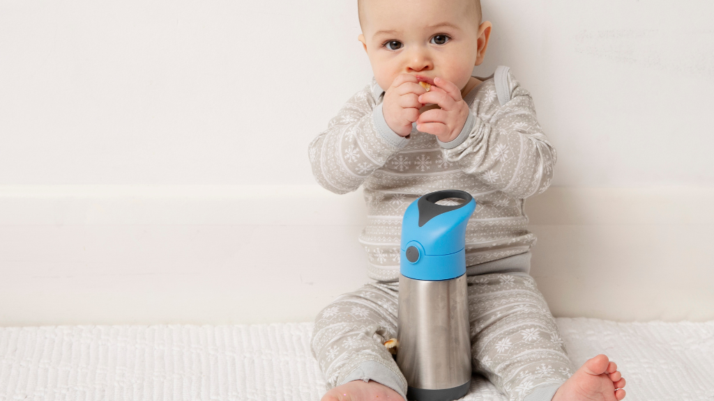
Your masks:
<path fill-rule="evenodd" d="M 359 193 L 319 186 L 0 186 L 0 225 L 352 225 Z"/>

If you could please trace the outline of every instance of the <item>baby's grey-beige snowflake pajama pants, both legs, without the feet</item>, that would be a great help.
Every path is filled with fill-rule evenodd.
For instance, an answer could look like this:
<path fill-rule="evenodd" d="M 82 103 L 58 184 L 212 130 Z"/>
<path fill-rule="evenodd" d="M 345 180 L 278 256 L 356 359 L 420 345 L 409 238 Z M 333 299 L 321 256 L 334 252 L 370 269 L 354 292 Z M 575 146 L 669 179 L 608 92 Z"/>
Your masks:
<path fill-rule="evenodd" d="M 533 278 L 485 274 L 467 282 L 473 370 L 510 400 L 549 401 L 573 367 Z M 374 283 L 318 314 L 311 348 L 329 387 L 368 377 L 404 397 L 406 380 L 383 345 L 396 338 L 397 306 L 398 284 Z"/>

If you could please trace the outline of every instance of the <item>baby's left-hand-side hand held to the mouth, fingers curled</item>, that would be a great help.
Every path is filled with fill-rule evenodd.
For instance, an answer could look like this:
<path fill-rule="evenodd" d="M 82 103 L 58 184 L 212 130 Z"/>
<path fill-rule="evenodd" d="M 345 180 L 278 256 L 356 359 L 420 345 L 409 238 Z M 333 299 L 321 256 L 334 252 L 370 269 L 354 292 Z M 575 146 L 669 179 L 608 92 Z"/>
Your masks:
<path fill-rule="evenodd" d="M 419 85 L 415 76 L 408 73 L 401 73 L 394 78 L 392 86 L 384 93 L 384 121 L 399 136 L 411 133 L 411 124 L 417 121 L 419 109 L 423 106 L 419 102 L 419 95 L 423 93 L 426 93 L 426 89 Z"/>

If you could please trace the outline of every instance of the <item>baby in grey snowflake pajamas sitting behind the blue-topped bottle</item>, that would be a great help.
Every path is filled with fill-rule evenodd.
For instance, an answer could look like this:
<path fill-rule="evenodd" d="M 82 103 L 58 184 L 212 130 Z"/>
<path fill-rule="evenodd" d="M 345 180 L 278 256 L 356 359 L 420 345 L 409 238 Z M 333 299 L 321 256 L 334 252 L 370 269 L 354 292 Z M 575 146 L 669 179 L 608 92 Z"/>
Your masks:
<path fill-rule="evenodd" d="M 311 347 L 323 401 L 402 400 L 407 383 L 383 343 L 396 337 L 401 218 L 419 196 L 471 193 L 466 230 L 473 370 L 510 400 L 622 400 L 605 355 L 573 372 L 553 316 L 528 275 L 535 236 L 524 199 L 550 185 L 555 149 L 530 94 L 506 67 L 471 76 L 491 23 L 478 0 L 361 0 L 374 73 L 309 146 L 324 188 L 364 188 L 360 242 L 376 283 L 341 295 L 316 318 Z"/>

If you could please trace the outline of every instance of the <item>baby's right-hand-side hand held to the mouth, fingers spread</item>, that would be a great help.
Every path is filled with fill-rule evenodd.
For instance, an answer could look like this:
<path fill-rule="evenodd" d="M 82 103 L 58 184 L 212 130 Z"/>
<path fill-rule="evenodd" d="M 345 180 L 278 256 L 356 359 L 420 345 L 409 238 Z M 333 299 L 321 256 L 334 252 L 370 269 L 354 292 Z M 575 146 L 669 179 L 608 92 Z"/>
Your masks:
<path fill-rule="evenodd" d="M 436 103 L 441 108 L 421 113 L 416 121 L 416 129 L 436 135 L 442 142 L 456 139 L 469 113 L 468 104 L 461 98 L 461 91 L 456 85 L 443 78 L 434 78 L 431 89 L 419 96 L 417 101 Z"/>

